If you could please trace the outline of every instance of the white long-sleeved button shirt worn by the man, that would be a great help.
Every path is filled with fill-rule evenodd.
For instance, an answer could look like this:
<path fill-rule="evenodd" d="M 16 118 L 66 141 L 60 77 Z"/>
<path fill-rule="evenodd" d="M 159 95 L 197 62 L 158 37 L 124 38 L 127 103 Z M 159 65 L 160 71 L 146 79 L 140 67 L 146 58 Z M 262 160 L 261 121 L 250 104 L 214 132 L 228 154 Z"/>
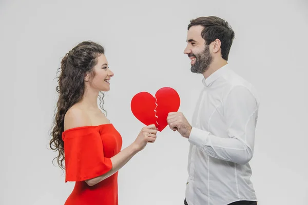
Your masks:
<path fill-rule="evenodd" d="M 259 100 L 256 91 L 225 65 L 203 78 L 188 156 L 188 205 L 257 201 L 248 161 L 254 153 Z"/>

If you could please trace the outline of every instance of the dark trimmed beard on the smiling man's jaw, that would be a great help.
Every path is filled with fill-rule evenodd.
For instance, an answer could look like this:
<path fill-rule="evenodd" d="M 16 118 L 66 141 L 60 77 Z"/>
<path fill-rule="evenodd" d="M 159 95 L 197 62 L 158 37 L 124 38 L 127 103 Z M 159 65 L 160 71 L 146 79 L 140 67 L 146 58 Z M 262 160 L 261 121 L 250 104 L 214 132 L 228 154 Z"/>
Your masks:
<path fill-rule="evenodd" d="M 196 55 L 191 53 L 188 55 L 188 57 L 190 56 L 194 56 L 196 58 L 195 64 L 190 68 L 191 72 L 193 73 L 204 73 L 213 61 L 213 57 L 209 52 L 209 45 L 205 45 L 203 52 Z"/>

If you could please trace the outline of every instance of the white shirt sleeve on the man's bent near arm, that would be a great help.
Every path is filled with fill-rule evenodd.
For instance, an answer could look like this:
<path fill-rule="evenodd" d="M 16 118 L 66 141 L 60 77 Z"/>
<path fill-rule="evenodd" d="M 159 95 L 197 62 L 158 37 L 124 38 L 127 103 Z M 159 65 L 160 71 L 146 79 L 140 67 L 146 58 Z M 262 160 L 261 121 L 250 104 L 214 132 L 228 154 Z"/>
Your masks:
<path fill-rule="evenodd" d="M 234 87 L 223 102 L 228 138 L 192 128 L 188 141 L 208 155 L 244 165 L 253 157 L 258 103 L 243 86 Z"/>

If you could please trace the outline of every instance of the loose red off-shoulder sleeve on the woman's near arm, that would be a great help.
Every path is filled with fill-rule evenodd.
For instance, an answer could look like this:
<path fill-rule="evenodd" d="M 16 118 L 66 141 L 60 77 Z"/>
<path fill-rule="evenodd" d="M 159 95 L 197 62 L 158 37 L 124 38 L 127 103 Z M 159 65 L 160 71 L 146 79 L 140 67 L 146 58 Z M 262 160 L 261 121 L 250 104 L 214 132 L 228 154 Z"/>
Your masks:
<path fill-rule="evenodd" d="M 111 159 L 104 156 L 101 135 L 94 128 L 69 130 L 63 139 L 65 182 L 95 178 L 111 170 Z"/>

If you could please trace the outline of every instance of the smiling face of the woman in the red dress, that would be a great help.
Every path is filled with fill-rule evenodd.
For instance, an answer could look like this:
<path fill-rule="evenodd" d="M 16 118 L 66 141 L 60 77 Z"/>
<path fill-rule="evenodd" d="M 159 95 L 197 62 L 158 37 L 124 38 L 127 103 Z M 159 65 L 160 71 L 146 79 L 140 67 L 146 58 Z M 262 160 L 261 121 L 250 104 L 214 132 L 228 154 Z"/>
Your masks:
<path fill-rule="evenodd" d="M 109 91 L 110 90 L 110 78 L 114 75 L 108 67 L 108 61 L 104 54 L 100 54 L 97 57 L 97 65 L 94 66 L 93 71 L 95 73 L 93 78 L 89 78 L 89 85 L 95 90 Z M 88 75 L 86 75 L 86 78 Z"/>

